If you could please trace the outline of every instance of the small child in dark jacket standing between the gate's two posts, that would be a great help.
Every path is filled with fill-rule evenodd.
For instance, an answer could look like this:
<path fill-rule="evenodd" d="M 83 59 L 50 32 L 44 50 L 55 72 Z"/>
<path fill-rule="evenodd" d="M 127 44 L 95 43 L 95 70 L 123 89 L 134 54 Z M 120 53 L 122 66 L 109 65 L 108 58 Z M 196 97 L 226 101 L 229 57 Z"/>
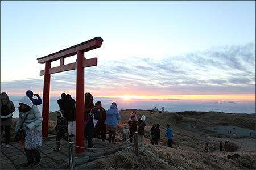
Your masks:
<path fill-rule="evenodd" d="M 60 139 L 63 138 L 65 141 L 72 142 L 68 137 L 67 121 L 64 117 L 64 111 L 57 111 L 57 125 L 55 130 L 58 131 L 56 137 L 56 148 L 53 151 L 60 151 Z"/>

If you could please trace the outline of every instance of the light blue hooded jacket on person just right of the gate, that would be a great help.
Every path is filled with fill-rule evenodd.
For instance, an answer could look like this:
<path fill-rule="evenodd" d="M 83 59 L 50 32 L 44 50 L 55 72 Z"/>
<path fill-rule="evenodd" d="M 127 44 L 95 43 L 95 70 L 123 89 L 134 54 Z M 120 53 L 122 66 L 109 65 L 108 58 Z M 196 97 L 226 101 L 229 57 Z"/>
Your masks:
<path fill-rule="evenodd" d="M 106 113 L 106 125 L 117 126 L 118 120 L 120 119 L 120 113 L 118 112 L 117 106 L 112 104 L 110 109 Z"/>

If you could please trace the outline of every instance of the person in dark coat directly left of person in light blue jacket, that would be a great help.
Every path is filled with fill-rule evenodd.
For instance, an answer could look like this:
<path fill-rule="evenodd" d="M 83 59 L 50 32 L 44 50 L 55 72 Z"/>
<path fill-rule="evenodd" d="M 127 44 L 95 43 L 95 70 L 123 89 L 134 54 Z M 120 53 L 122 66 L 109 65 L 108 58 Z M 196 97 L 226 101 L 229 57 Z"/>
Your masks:
<path fill-rule="evenodd" d="M 98 105 L 99 109 L 102 112 L 102 117 L 98 121 L 98 128 L 95 134 L 98 139 L 101 138 L 102 141 L 105 141 L 106 140 L 106 124 L 104 124 L 104 122 L 106 121 L 106 110 L 102 107 L 101 101 L 97 101 L 95 105 Z"/>

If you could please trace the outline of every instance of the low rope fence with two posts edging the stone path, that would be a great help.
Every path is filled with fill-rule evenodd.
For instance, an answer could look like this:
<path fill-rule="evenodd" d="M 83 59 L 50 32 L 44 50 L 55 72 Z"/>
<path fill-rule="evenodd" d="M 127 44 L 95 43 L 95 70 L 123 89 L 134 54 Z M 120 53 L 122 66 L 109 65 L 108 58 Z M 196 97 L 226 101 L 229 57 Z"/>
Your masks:
<path fill-rule="evenodd" d="M 79 147 L 79 148 L 84 148 L 86 150 L 106 150 L 106 149 L 110 149 L 110 148 L 115 148 L 118 146 L 123 145 L 123 143 L 129 142 L 131 138 L 135 137 L 135 154 L 138 155 L 138 132 L 136 131 L 135 134 L 133 136 L 131 136 L 129 139 L 127 139 L 125 142 L 120 143 L 119 145 L 115 145 L 115 146 L 111 146 L 111 147 L 106 147 L 106 148 L 88 148 L 88 147 L 81 147 L 81 146 L 76 146 L 74 142 L 69 142 L 68 143 L 68 149 L 69 149 L 69 169 L 75 169 L 75 158 L 76 159 L 99 159 L 99 158 L 105 158 L 108 156 L 112 156 L 114 154 L 119 154 L 123 151 L 128 150 L 129 148 L 131 148 L 131 145 L 129 145 L 127 148 L 125 148 L 124 150 L 115 152 L 114 154 L 109 154 L 109 155 L 105 155 L 105 156 L 98 156 L 98 157 L 89 157 L 89 158 L 85 158 L 85 157 L 75 157 L 75 151 L 74 151 L 74 147 Z"/>

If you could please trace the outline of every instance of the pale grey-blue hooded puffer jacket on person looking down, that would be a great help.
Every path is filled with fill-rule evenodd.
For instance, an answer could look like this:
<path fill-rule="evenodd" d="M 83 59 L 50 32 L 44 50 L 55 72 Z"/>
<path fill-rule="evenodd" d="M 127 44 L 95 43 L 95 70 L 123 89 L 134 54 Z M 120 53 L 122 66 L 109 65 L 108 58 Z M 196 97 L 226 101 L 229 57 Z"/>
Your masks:
<path fill-rule="evenodd" d="M 42 118 L 40 109 L 36 105 L 33 105 L 32 101 L 27 96 L 22 97 L 22 99 L 20 99 L 19 103 L 28 105 L 28 107 L 30 107 L 30 111 L 27 111 L 24 113 L 19 111 L 19 120 L 17 122 L 15 131 L 18 131 L 18 129 L 22 125 L 22 122 L 27 114 L 28 114 L 28 116 L 23 124 L 24 132 L 29 131 L 29 130 L 35 130 L 35 126 L 36 126 L 36 129 L 42 130 L 43 118 Z"/>

